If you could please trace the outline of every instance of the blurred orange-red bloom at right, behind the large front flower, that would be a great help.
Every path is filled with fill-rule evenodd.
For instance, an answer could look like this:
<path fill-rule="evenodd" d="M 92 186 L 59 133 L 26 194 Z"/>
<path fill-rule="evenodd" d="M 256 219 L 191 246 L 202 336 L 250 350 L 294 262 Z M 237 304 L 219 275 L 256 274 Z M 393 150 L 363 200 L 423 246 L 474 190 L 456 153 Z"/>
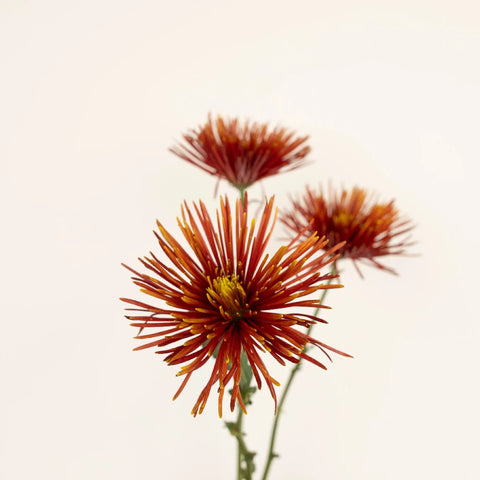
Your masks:
<path fill-rule="evenodd" d="M 282 222 L 295 234 L 316 232 L 329 240 L 329 245 L 346 242 L 340 256 L 350 258 L 359 272 L 357 260 L 366 261 L 382 270 L 395 271 L 378 261 L 378 257 L 398 255 L 411 245 L 406 233 L 413 225 L 401 218 L 389 203 L 376 203 L 367 192 L 354 187 L 351 191 L 314 192 L 309 187 L 292 209 L 282 216 Z"/>

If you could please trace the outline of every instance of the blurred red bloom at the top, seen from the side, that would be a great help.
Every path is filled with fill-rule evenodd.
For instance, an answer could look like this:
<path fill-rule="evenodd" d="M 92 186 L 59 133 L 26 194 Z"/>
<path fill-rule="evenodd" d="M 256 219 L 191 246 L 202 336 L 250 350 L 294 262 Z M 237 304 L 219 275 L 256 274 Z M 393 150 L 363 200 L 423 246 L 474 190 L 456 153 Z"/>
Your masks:
<path fill-rule="evenodd" d="M 209 117 L 205 125 L 184 135 L 184 143 L 170 151 L 244 190 L 257 180 L 303 165 L 310 152 L 307 138 L 295 137 L 284 128 L 241 125 L 237 119 L 218 116 L 215 122 Z"/>

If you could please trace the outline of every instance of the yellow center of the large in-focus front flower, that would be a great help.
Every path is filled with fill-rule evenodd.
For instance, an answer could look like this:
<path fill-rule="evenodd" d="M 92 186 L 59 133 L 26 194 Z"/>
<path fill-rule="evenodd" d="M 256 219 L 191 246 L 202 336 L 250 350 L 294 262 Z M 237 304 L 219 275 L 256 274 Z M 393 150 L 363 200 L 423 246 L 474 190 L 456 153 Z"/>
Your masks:
<path fill-rule="evenodd" d="M 235 275 L 215 278 L 207 288 L 207 296 L 210 303 L 218 307 L 228 320 L 240 320 L 248 309 L 247 295 Z"/>

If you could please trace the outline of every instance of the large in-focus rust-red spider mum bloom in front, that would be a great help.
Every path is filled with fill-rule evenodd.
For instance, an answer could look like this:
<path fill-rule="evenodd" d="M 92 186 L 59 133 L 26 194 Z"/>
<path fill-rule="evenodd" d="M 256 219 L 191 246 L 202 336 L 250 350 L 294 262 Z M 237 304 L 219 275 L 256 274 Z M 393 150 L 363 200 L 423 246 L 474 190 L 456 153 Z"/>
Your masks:
<path fill-rule="evenodd" d="M 233 217 L 228 199 L 222 198 L 216 222 L 202 202 L 193 209 L 184 204 L 178 224 L 190 251 L 157 222 L 159 233 L 155 235 L 165 263 L 150 253 L 140 259 L 150 274 L 127 267 L 135 275 L 134 283 L 153 300 L 145 303 L 122 298 L 135 307 L 129 310 L 140 312 L 127 317 L 140 328 L 136 338 L 148 341 L 136 350 L 157 348 L 169 365 L 183 364 L 177 375 L 185 379 L 174 399 L 197 369 L 211 365 L 193 415 L 203 411 L 211 388 L 218 383 L 221 416 L 222 399 L 231 381 L 230 408 L 233 411 L 238 401 L 245 411 L 239 387 L 242 352 L 257 386 L 261 388 L 263 377 L 275 405 L 274 386 L 278 382 L 269 374 L 260 353 L 268 352 L 282 365 L 285 360 L 298 363 L 303 358 L 322 368 L 322 363 L 305 353 L 307 344 L 316 345 L 325 354 L 326 350 L 342 353 L 295 328 L 324 322 L 301 310 L 321 307 L 313 298 L 315 292 L 338 287 L 322 283 L 332 275 L 320 271 L 335 259 L 334 252 L 341 245 L 324 252 L 326 241 L 313 234 L 269 256 L 265 251 L 277 215 L 275 212 L 272 221 L 272 211 L 273 197 L 256 228 L 254 220 L 248 223 L 247 208 L 241 201 L 237 201 Z"/>

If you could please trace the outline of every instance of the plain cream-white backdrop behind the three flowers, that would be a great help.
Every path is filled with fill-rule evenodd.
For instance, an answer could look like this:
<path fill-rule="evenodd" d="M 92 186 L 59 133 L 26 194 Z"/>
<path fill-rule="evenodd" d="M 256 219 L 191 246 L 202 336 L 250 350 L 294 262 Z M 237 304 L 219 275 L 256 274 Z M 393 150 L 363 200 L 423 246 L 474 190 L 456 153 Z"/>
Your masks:
<path fill-rule="evenodd" d="M 168 152 L 209 112 L 310 135 L 252 198 L 360 185 L 416 224 L 398 276 L 343 266 L 316 336 L 355 359 L 304 366 L 271 479 L 480 478 L 479 51 L 466 0 L 3 0 L 0 478 L 235 478 L 215 394 L 190 415 L 206 372 L 172 402 L 118 300 L 156 218 L 178 235 L 183 200 L 218 204 Z M 259 469 L 272 414 L 262 390 Z"/>

